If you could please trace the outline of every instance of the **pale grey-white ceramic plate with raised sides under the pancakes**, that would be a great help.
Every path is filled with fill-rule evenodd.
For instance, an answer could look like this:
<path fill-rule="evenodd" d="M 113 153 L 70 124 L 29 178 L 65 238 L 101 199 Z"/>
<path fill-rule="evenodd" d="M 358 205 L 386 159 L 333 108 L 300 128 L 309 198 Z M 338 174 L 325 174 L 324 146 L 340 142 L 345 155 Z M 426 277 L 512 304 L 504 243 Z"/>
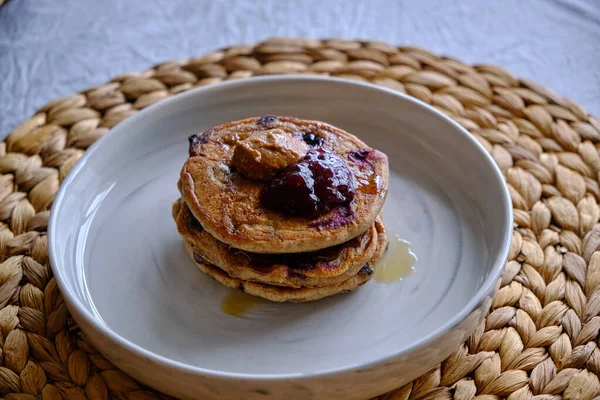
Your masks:
<path fill-rule="evenodd" d="M 412 243 L 413 275 L 241 317 L 221 311 L 229 289 L 194 266 L 171 204 L 189 135 L 264 114 L 325 121 L 388 154 L 384 219 Z M 193 90 L 113 128 L 63 183 L 49 246 L 89 339 L 151 386 L 186 398 L 350 399 L 417 377 L 466 339 L 489 307 L 511 226 L 491 157 L 434 109 L 367 84 L 268 77 Z"/>

